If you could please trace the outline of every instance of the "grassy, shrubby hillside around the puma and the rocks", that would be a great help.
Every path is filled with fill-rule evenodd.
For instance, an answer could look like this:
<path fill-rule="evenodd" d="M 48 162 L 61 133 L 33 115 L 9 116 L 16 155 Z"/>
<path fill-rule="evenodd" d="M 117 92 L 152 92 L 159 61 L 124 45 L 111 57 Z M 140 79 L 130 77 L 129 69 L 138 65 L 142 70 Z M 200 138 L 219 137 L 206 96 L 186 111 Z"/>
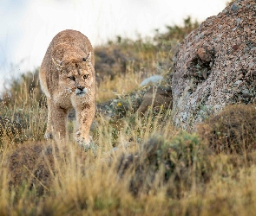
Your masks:
<path fill-rule="evenodd" d="M 38 70 L 10 83 L 0 102 L 0 215 L 253 215 L 255 105 L 226 107 L 194 133 L 172 112 L 135 107 L 151 74 L 170 86 L 172 59 L 197 22 L 95 48 L 98 111 L 85 151 L 43 139 L 47 107 Z M 107 108 L 106 108 L 107 107 Z M 115 148 L 113 148 L 115 147 Z"/>

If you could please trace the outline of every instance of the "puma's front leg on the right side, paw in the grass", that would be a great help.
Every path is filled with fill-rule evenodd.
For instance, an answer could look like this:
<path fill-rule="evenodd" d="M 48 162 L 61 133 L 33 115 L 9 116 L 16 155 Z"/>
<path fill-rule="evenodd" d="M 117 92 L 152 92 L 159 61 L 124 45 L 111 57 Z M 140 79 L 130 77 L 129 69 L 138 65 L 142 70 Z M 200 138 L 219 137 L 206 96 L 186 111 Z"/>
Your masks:
<path fill-rule="evenodd" d="M 76 132 L 76 141 L 83 147 L 89 147 L 90 137 L 89 130 L 91 124 L 95 118 L 95 105 L 88 105 L 83 109 L 77 109 L 76 121 L 78 124 L 78 130 Z"/>

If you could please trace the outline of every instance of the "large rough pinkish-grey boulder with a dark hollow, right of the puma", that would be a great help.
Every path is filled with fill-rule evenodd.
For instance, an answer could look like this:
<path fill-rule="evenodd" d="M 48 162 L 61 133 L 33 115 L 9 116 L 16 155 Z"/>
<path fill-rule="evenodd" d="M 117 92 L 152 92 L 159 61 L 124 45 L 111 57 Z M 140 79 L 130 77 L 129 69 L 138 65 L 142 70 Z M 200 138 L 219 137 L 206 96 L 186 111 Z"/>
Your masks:
<path fill-rule="evenodd" d="M 207 18 L 174 57 L 174 124 L 183 129 L 256 92 L 256 2 L 235 1 Z"/>

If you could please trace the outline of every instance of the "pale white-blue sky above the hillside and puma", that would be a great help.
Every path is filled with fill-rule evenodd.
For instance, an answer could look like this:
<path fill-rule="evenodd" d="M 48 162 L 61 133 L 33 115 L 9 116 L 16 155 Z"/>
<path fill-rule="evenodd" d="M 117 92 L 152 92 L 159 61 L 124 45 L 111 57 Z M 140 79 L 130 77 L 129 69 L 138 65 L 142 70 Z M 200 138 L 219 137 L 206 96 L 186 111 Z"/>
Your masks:
<path fill-rule="evenodd" d="M 41 65 L 49 42 L 64 29 L 93 46 L 116 35 L 135 38 L 154 29 L 217 15 L 226 0 L 0 0 L 0 91 L 3 82 Z M 12 67 L 11 67 L 12 65 Z"/>

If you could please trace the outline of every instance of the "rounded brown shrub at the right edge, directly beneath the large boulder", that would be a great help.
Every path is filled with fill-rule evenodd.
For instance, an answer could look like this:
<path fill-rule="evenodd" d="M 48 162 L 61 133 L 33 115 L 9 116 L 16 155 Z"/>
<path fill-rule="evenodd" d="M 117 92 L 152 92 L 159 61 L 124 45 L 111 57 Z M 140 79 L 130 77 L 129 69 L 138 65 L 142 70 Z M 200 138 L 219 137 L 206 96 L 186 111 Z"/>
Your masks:
<path fill-rule="evenodd" d="M 229 105 L 200 124 L 198 132 L 216 153 L 244 154 L 256 148 L 255 105 Z"/>

